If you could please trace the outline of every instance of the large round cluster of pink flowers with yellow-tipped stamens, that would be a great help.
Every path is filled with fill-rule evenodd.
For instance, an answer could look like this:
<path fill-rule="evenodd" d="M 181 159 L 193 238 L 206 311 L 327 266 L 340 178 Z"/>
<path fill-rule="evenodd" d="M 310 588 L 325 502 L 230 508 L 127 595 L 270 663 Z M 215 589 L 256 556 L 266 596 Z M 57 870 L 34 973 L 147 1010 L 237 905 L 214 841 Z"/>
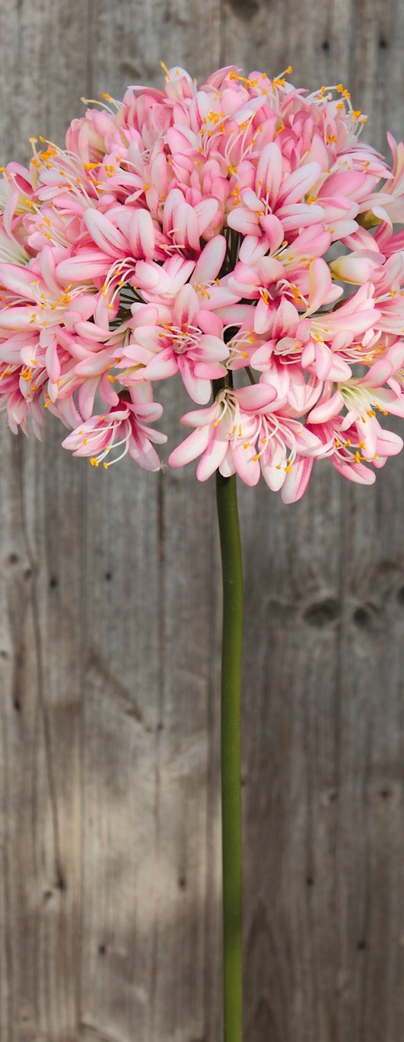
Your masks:
<path fill-rule="evenodd" d="M 314 460 L 372 483 L 403 445 L 379 419 L 404 415 L 404 145 L 390 166 L 365 145 L 340 83 L 165 72 L 2 169 L 10 429 L 49 410 L 75 455 L 157 470 L 154 383 L 178 374 L 202 407 L 171 466 L 262 475 L 285 502 Z"/>

